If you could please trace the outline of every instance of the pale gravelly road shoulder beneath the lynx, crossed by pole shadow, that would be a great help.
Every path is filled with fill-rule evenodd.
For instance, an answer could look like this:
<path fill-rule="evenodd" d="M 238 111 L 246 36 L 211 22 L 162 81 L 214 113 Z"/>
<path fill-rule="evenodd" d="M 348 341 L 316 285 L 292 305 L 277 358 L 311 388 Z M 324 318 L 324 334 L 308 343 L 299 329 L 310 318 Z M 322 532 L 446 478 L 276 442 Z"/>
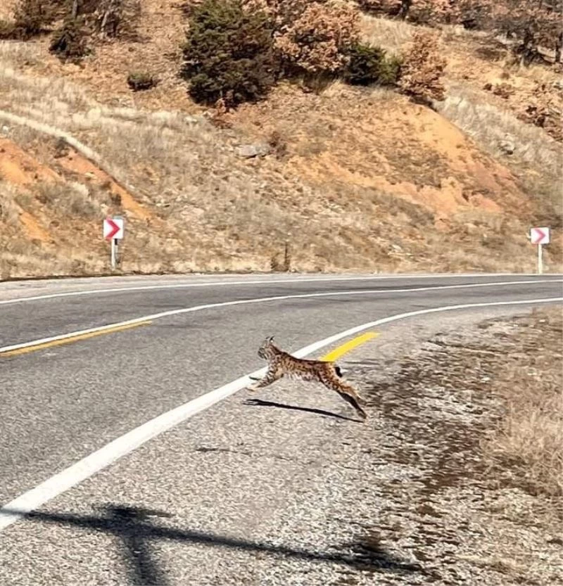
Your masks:
<path fill-rule="evenodd" d="M 310 384 L 229 397 L 8 528 L 0 583 L 563 584 L 560 501 L 481 450 L 526 335 L 506 316 L 393 324 L 350 353 L 365 424 Z"/>

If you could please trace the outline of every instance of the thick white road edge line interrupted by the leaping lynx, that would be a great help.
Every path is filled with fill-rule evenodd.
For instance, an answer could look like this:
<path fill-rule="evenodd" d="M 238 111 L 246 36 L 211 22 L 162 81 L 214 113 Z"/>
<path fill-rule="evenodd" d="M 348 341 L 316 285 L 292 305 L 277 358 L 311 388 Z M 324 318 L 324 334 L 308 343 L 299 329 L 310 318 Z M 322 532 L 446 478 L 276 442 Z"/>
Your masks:
<path fill-rule="evenodd" d="M 552 297 L 546 299 L 526 299 L 519 301 L 495 301 L 495 302 L 483 302 L 483 303 L 465 303 L 463 305 L 445 305 L 444 307 L 433 307 L 429 310 L 417 310 L 414 312 L 400 313 L 377 319 L 376 321 L 369 321 L 367 324 L 355 326 L 345 331 L 324 338 L 318 342 L 312 343 L 305 348 L 301 348 L 294 352 L 297 357 L 305 357 L 312 352 L 320 350 L 325 346 L 331 345 L 334 342 L 338 342 L 342 338 L 348 338 L 356 333 L 381 326 L 382 324 L 388 324 L 391 321 L 398 321 L 399 319 L 405 319 L 407 317 L 415 317 L 417 315 L 445 312 L 451 310 L 467 310 L 474 307 L 493 307 L 501 305 L 531 305 L 534 303 L 552 303 L 557 301 L 563 301 L 563 297 Z M 113 464 L 116 460 L 129 454 L 133 450 L 143 445 L 148 440 L 156 438 L 157 435 L 169 430 L 172 427 L 177 426 L 182 421 L 186 421 L 190 417 L 208 409 L 215 403 L 234 395 L 236 391 L 246 387 L 251 383 L 251 376 L 262 376 L 265 373 L 265 368 L 258 371 L 254 371 L 251 374 L 246 374 L 237 378 L 236 381 L 227 383 L 226 385 L 211 390 L 201 397 L 197 397 L 184 405 L 180 405 L 171 411 L 163 413 L 141 426 L 134 428 L 132 431 L 125 433 L 120 438 L 113 440 L 101 447 L 100 450 L 96 450 L 89 456 L 77 461 L 63 471 L 51 476 L 48 480 L 37 485 L 35 488 L 24 492 L 23 495 L 16 497 L 12 501 L 6 503 L 4 507 L 0 509 L 0 531 L 10 526 L 18 519 L 22 518 L 26 513 L 30 513 L 39 507 L 42 507 L 49 500 L 58 497 L 63 492 L 70 490 L 73 486 L 81 483 L 90 476 L 93 476 L 96 472 L 101 471 L 110 464 Z"/>

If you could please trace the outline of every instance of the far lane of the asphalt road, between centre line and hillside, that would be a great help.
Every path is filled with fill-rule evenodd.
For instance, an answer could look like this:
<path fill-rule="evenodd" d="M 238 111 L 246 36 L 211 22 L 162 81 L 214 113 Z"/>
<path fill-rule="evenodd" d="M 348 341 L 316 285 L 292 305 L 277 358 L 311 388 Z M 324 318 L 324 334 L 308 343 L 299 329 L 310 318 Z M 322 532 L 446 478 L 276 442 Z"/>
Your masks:
<path fill-rule="evenodd" d="M 351 280 L 350 280 L 351 279 Z M 548 276 L 544 279 L 557 279 Z M 532 286 L 506 286 L 499 288 L 464 288 L 460 291 L 453 286 L 500 283 L 507 281 L 530 281 L 530 276 L 474 276 L 452 277 L 437 276 L 429 278 L 377 278 L 366 276 L 343 276 L 335 280 L 326 277 L 229 277 L 227 279 L 209 279 L 191 277 L 189 279 L 73 279 L 68 281 L 36 281 L 0 284 L 0 346 L 27 342 L 37 338 L 56 336 L 60 333 L 89 329 L 145 315 L 179 310 L 186 307 L 221 304 L 233 300 L 251 300 L 265 297 L 283 297 L 288 295 L 310 295 L 317 293 L 343 293 L 353 291 L 364 294 L 362 297 L 344 296 L 336 300 L 342 302 L 368 303 L 369 311 L 374 311 L 374 302 L 383 312 L 391 307 L 389 303 L 397 298 L 416 298 L 417 302 L 443 300 L 453 302 L 472 302 L 486 298 L 501 300 L 502 295 L 512 295 L 521 291 L 528 295 L 533 291 L 553 291 L 554 285 L 541 284 Z M 154 288 L 156 287 L 156 288 Z M 163 288 L 161 288 L 163 287 Z M 433 291 L 417 291 L 424 288 L 436 288 Z M 443 288 L 441 291 L 440 288 Z M 557 285 L 555 285 L 557 288 Z M 92 291 L 102 290 L 100 293 Z M 403 290 L 407 291 L 403 291 Z M 113 290 L 113 291 L 111 291 Z M 362 293 L 363 292 L 363 293 Z M 82 293 L 82 295 L 72 295 Z M 86 293 L 86 294 L 84 294 Z M 41 298 L 47 295 L 67 295 L 62 297 Z M 37 300 L 22 301 L 30 297 Z M 20 302 L 13 303 L 14 300 Z M 298 306 L 324 304 L 329 311 L 335 300 L 312 299 L 294 300 Z M 4 305 L 3 305 L 4 304 Z M 251 312 L 256 309 L 253 306 Z M 268 303 L 266 311 L 272 313 L 274 304 Z M 275 311 L 274 311 L 275 313 Z M 332 312 L 331 312 L 332 313 Z M 339 312 L 340 314 L 340 312 Z M 213 319 L 212 312 L 207 312 Z M 343 320 L 334 325 L 343 327 L 349 323 L 346 313 Z M 329 327 L 333 324 L 327 324 Z M 224 324 L 228 327 L 229 324 Z"/>

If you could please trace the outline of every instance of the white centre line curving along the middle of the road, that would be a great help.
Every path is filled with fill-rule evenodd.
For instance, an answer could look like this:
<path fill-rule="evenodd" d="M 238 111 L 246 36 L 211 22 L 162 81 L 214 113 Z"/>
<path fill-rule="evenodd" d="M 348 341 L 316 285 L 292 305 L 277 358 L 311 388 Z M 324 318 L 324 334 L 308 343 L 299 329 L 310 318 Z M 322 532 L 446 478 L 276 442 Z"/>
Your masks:
<path fill-rule="evenodd" d="M 123 326 L 130 326 L 132 324 L 139 324 L 141 321 L 153 321 L 162 317 L 170 317 L 172 315 L 179 315 L 184 313 L 198 312 L 202 310 L 215 309 L 216 307 L 227 307 L 229 305 L 247 305 L 249 303 L 265 303 L 270 301 L 283 301 L 287 299 L 310 299 L 317 297 L 338 297 L 346 295 L 372 295 L 376 293 L 415 293 L 419 291 L 442 291 L 448 289 L 464 289 L 476 287 L 496 287 L 496 286 L 514 286 L 514 285 L 529 285 L 540 283 L 563 283 L 563 279 L 537 279 L 536 281 L 504 281 L 502 283 L 473 283 L 465 285 L 437 285 L 431 287 L 417 287 L 407 289 L 367 289 L 365 291 L 327 291 L 325 293 L 298 293 L 296 295 L 277 295 L 274 297 L 260 297 L 255 299 L 243 299 L 234 301 L 222 301 L 219 303 L 208 303 L 206 305 L 195 305 L 194 307 L 183 307 L 178 310 L 168 310 L 166 312 L 155 313 L 152 315 L 145 315 L 143 317 L 135 317 L 134 319 L 127 319 L 126 321 L 117 321 L 114 324 L 106 324 L 105 326 L 97 326 L 85 330 L 72 331 L 70 333 L 61 333 L 58 336 L 51 336 L 50 338 L 40 338 L 39 340 L 31 340 L 30 342 L 23 342 L 13 344 L 10 346 L 3 346 L 0 348 L 0 355 L 4 352 L 11 352 L 12 350 L 20 350 L 20 348 L 30 348 L 30 346 L 37 346 L 39 344 L 46 344 L 56 340 L 65 340 L 67 338 L 75 338 L 77 336 L 84 336 L 85 334 L 101 332 L 108 329 L 121 328 Z"/>

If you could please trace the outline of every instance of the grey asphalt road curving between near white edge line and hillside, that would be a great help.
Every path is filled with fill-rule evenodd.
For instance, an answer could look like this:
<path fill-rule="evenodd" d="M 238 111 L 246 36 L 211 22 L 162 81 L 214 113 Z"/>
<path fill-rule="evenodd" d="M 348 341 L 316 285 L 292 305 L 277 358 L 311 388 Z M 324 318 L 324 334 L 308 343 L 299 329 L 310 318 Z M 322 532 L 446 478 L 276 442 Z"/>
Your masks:
<path fill-rule="evenodd" d="M 3 348 L 192 308 L 127 331 L 22 355 L 0 354 L 0 503 L 153 417 L 259 369 L 263 364 L 256 350 L 267 335 L 292 351 L 393 314 L 562 293 L 557 275 L 191 276 L 0 284 Z M 225 305 L 235 301 L 246 303 Z M 206 307 L 193 310 L 200 306 Z M 431 319 L 439 324 L 441 315 Z M 410 327 L 408 321 L 403 324 Z M 209 415 L 217 409 L 222 407 L 196 416 L 200 435 L 217 433 Z M 237 429 L 236 417 L 229 426 L 235 436 L 248 433 Z M 279 433 L 291 442 L 291 431 Z M 250 488 L 251 476 L 241 472 L 234 479 L 239 484 L 240 490 Z"/>

